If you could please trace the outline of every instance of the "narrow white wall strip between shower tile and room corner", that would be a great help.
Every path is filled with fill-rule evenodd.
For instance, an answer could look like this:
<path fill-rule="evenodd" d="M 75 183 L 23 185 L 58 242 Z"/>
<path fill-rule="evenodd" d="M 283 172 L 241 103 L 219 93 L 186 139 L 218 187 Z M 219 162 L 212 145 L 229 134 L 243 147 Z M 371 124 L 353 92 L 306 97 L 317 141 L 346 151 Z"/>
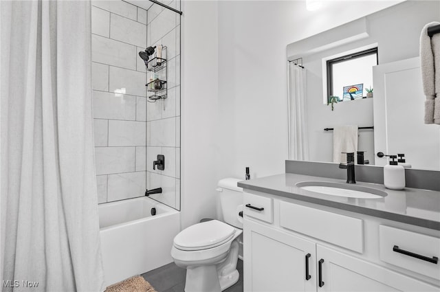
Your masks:
<path fill-rule="evenodd" d="M 181 225 L 216 216 L 218 14 L 216 1 L 182 1 Z"/>

